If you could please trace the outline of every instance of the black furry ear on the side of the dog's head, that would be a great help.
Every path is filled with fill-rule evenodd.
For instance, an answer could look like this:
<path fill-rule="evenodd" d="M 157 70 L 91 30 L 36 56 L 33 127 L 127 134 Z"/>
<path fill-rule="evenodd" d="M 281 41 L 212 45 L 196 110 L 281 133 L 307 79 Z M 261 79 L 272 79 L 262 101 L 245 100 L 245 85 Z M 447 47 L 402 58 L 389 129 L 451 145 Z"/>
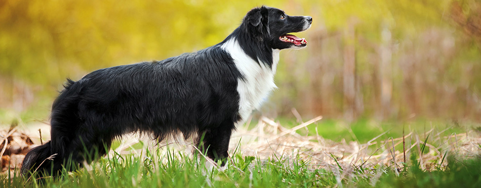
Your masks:
<path fill-rule="evenodd" d="M 264 6 L 252 9 L 244 18 L 246 32 L 253 34 L 260 41 L 270 34 L 268 23 L 269 10 Z"/>

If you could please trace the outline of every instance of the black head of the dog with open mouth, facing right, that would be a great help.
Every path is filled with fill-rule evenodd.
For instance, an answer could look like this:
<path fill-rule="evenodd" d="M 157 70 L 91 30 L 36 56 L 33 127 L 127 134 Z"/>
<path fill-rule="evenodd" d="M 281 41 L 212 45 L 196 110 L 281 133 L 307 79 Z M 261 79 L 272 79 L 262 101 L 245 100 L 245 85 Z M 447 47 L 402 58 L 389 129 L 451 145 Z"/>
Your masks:
<path fill-rule="evenodd" d="M 272 49 L 305 47 L 304 38 L 289 33 L 304 31 L 311 23 L 310 16 L 289 16 L 283 10 L 264 6 L 249 11 L 243 21 L 249 34 Z"/>

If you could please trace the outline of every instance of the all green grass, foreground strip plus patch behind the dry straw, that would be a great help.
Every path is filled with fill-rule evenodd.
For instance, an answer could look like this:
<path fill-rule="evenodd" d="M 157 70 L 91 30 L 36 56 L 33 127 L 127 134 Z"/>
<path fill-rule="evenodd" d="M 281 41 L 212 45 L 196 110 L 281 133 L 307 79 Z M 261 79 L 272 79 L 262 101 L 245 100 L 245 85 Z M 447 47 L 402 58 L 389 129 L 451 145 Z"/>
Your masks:
<path fill-rule="evenodd" d="M 280 119 L 286 127 L 297 126 L 292 119 Z M 403 126 L 406 134 L 418 133 L 424 141 L 420 152 L 412 150 L 407 161 L 407 168 L 395 169 L 393 166 L 377 164 L 367 168 L 366 165 L 347 168 L 333 163 L 330 168 L 313 166 L 309 160 L 301 160 L 299 154 L 288 158 L 275 156 L 256 158 L 231 152 L 232 160 L 224 171 L 206 167 L 203 157 L 189 153 L 174 151 L 167 147 L 154 151 L 143 150 L 143 155 L 113 154 L 102 157 L 91 164 L 91 168 L 81 168 L 74 172 L 64 173 L 59 177 L 46 177 L 42 180 L 26 181 L 17 175 L 0 175 L 0 187 L 479 187 L 481 186 L 481 156 L 456 156 L 445 151 L 442 158 L 444 165 L 424 170 L 418 157 L 426 155 L 425 143 L 439 143 L 434 138 L 454 133 L 476 132 L 476 125 L 461 127 L 454 122 L 413 123 L 375 123 L 360 120 L 346 125 L 334 120 L 321 120 L 298 133 L 317 134 L 334 141 L 359 141 L 366 143 L 374 137 L 386 132 L 380 140 L 402 137 Z M 434 132 L 422 135 L 434 128 Z M 408 131 L 409 130 L 409 131 Z M 443 132 L 443 130 L 446 130 Z M 119 145 L 114 143 L 112 148 Z M 379 142 L 378 145 L 381 145 Z M 143 148 L 142 143 L 132 146 Z M 373 146 L 377 148 L 378 146 Z M 397 146 L 397 150 L 402 150 Z M 481 148 L 481 146 L 479 146 Z M 374 149 L 373 149 L 374 150 Z M 370 151 L 370 152 L 373 152 Z M 383 149 L 384 150 L 384 149 Z M 428 150 L 428 149 L 426 149 Z M 480 149 L 481 150 L 481 149 Z M 381 151 L 379 151 L 381 152 Z M 474 151 L 479 153 L 479 151 Z M 332 154 L 331 154 L 332 155 Z M 369 154 L 368 154 L 369 155 Z M 332 156 L 336 160 L 335 156 Z M 315 159 L 312 159 L 315 160 Z M 337 162 L 337 161 L 336 161 Z M 438 163 L 438 162 L 436 162 Z"/>

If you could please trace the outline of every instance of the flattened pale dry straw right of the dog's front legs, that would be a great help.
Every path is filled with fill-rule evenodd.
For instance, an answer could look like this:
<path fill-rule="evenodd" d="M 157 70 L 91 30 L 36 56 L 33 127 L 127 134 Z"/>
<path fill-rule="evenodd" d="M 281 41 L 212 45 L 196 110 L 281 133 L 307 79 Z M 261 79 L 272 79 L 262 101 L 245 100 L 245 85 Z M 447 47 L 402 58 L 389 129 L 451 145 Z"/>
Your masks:
<path fill-rule="evenodd" d="M 481 137 L 473 132 L 442 136 L 447 130 L 431 129 L 425 133 L 410 132 L 404 137 L 381 140 L 381 136 L 386 134 L 384 132 L 366 143 L 333 142 L 317 133 L 315 136 L 296 133 L 296 130 L 307 127 L 320 118 L 322 117 L 287 129 L 272 119 L 261 117 L 254 129 L 238 130 L 231 142 L 242 137 L 243 147 L 240 152 L 243 155 L 261 159 L 294 159 L 299 156 L 309 161 L 312 168 L 340 168 L 344 172 L 374 169 L 378 165 L 395 166 L 400 171 L 413 152 L 416 155 L 422 153 L 417 158 L 423 170 L 444 169 L 448 155 L 463 158 L 481 156 Z M 232 142 L 231 148 L 235 144 L 237 143 Z"/>

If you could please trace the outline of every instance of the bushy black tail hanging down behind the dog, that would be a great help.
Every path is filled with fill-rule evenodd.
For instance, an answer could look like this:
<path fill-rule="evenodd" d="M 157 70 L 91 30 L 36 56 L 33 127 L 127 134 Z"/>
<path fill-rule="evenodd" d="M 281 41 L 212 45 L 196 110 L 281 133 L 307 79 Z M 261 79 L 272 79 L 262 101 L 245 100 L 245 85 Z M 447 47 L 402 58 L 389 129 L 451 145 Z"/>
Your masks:
<path fill-rule="evenodd" d="M 62 169 L 67 162 L 69 149 L 67 145 L 75 135 L 75 127 L 79 123 L 76 116 L 78 92 L 81 86 L 67 80 L 65 89 L 60 93 L 52 105 L 51 115 L 51 141 L 30 150 L 23 159 L 20 172 L 28 175 L 29 172 L 55 173 Z"/>

